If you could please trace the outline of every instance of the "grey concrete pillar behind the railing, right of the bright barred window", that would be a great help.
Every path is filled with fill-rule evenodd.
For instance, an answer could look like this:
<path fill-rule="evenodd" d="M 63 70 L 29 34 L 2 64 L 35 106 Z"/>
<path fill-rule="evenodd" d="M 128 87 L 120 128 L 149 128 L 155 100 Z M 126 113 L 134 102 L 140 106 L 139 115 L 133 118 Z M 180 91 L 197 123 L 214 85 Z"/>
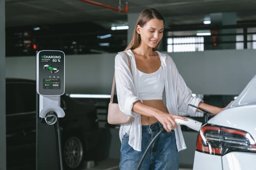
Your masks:
<path fill-rule="evenodd" d="M 221 26 L 221 25 L 236 25 L 236 13 L 227 12 L 227 13 L 213 13 L 210 14 L 211 25 Z M 224 30 L 211 30 L 212 35 L 217 34 L 235 34 L 236 29 L 224 29 Z M 211 44 L 205 44 L 205 50 L 217 50 L 217 49 L 236 49 L 236 43 L 217 43 L 216 41 L 236 41 L 236 35 L 228 36 L 211 36 L 205 37 L 205 41 L 212 42 Z"/>

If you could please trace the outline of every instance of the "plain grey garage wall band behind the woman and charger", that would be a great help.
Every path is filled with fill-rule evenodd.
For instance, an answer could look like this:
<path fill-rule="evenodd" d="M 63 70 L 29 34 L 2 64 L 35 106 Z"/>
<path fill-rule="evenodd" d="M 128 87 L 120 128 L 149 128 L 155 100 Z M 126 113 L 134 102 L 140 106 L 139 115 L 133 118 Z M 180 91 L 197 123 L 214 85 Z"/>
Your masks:
<path fill-rule="evenodd" d="M 197 94 L 239 94 L 256 74 L 256 50 L 169 53 Z M 66 55 L 66 93 L 110 94 L 115 53 Z M 7 57 L 6 76 L 36 79 L 36 57 Z"/>

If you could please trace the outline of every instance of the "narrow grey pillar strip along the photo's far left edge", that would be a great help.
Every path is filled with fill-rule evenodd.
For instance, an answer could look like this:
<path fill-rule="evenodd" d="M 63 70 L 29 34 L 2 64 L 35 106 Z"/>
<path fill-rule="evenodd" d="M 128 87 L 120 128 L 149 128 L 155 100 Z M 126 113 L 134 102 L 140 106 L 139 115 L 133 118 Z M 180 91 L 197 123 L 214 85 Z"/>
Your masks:
<path fill-rule="evenodd" d="M 5 0 L 0 0 L 0 170 L 6 170 Z"/>

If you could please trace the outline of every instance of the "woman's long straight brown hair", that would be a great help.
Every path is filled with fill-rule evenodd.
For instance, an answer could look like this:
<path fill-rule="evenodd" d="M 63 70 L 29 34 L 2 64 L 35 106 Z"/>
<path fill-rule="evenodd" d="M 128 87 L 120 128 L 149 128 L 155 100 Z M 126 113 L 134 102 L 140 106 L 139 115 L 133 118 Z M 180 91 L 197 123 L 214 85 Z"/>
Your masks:
<path fill-rule="evenodd" d="M 164 22 L 163 16 L 154 8 L 146 8 L 140 13 L 133 31 L 133 39 L 131 40 L 131 42 L 128 44 L 128 46 L 125 48 L 124 51 L 129 49 L 133 50 L 139 46 L 140 34 L 138 34 L 136 31 L 137 25 L 139 25 L 140 27 L 143 27 L 150 19 L 154 19 L 154 18 L 163 20 Z M 157 47 L 153 49 L 153 51 L 158 49 L 159 44 L 160 42 L 158 43 Z"/>

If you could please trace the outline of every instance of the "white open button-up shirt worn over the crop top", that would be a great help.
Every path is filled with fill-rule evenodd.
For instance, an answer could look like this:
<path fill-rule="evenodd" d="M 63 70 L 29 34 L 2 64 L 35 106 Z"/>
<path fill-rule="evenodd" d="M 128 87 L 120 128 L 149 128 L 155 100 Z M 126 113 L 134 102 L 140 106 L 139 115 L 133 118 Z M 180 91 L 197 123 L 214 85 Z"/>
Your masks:
<path fill-rule="evenodd" d="M 122 124 L 119 129 L 120 140 L 127 133 L 129 135 L 129 145 L 136 151 L 141 151 L 141 121 L 140 114 L 132 111 L 133 103 L 141 101 L 137 90 L 137 66 L 135 56 L 131 50 L 125 51 L 131 59 L 131 70 L 128 58 L 125 53 L 118 52 L 115 57 L 115 76 L 118 105 L 122 112 L 128 116 L 135 117 L 129 124 Z M 161 61 L 164 74 L 166 108 L 169 113 L 180 116 L 203 116 L 203 113 L 196 112 L 196 108 L 189 107 L 188 104 L 198 105 L 201 98 L 192 97 L 192 91 L 187 87 L 180 76 L 173 59 L 159 51 L 156 51 Z M 133 76 L 134 75 L 134 76 Z M 142 101 L 141 101 L 142 102 Z M 186 149 L 186 144 L 180 126 L 175 129 L 177 150 Z"/>

